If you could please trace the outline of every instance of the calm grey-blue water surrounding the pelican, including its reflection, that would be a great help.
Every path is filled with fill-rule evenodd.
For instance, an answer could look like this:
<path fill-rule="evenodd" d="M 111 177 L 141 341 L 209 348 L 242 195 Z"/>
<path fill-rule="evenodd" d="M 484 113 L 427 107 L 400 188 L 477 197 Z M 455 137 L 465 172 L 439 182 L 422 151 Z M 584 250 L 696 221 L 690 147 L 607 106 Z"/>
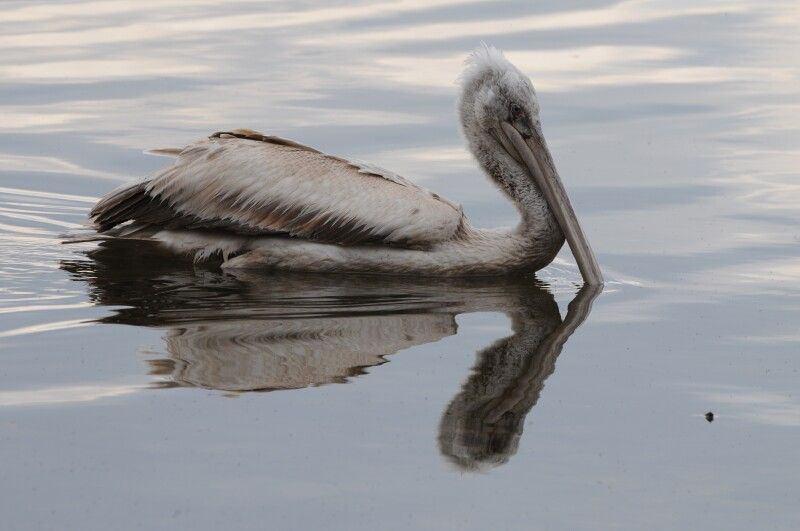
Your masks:
<path fill-rule="evenodd" d="M 3 529 L 800 527 L 800 11 L 531 4 L 3 2 Z M 481 40 L 539 90 L 597 298 L 566 251 L 425 282 L 59 243 L 234 127 L 511 224 L 454 114 Z"/>

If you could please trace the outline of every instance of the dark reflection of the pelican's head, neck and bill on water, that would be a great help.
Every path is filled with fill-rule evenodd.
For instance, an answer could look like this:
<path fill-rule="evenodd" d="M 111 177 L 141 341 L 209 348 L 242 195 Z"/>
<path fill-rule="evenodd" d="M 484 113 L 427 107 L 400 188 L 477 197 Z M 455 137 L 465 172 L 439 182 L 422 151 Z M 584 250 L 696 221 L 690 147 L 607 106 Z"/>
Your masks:
<path fill-rule="evenodd" d="M 513 335 L 478 352 L 472 374 L 442 414 L 442 455 L 463 470 L 479 471 L 502 465 L 517 452 L 525 417 L 598 293 L 597 287 L 582 288 L 563 321 L 546 292 L 507 312 Z"/>

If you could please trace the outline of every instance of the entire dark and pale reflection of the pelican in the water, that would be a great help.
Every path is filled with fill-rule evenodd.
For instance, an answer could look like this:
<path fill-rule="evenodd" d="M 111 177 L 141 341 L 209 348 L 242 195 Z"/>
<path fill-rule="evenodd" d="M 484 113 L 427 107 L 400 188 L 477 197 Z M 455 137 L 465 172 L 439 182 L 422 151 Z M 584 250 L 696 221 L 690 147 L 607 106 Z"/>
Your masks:
<path fill-rule="evenodd" d="M 235 276 L 168 259 L 155 246 L 113 241 L 62 263 L 100 305 L 103 322 L 163 328 L 158 387 L 231 392 L 345 382 L 386 356 L 456 333 L 460 313 L 499 311 L 513 335 L 478 353 L 446 408 L 441 452 L 463 469 L 506 462 L 525 416 L 599 288 L 584 287 L 562 320 L 534 279 Z M 204 266 L 205 267 L 205 266 Z"/>

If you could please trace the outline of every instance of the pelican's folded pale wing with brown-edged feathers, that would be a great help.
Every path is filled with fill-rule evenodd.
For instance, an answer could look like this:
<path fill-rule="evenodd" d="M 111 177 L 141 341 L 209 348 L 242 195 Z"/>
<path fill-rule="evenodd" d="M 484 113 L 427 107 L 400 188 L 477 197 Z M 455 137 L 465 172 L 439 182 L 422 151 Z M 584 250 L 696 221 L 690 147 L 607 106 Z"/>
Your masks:
<path fill-rule="evenodd" d="M 133 221 L 406 246 L 451 239 L 464 221 L 460 206 L 399 175 L 243 129 L 189 145 L 152 179 L 100 200 L 91 216 L 101 232 Z"/>

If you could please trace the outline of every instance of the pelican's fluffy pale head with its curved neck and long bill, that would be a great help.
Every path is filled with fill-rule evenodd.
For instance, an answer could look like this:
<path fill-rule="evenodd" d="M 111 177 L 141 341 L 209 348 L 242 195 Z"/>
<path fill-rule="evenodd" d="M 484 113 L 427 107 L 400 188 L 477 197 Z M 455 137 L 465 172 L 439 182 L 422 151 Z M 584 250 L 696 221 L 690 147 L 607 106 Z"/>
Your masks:
<path fill-rule="evenodd" d="M 459 113 L 472 153 L 515 202 L 524 229 L 553 242 L 553 254 L 566 237 L 584 280 L 602 284 L 600 267 L 545 142 L 530 78 L 501 51 L 483 45 L 467 59 Z"/>

